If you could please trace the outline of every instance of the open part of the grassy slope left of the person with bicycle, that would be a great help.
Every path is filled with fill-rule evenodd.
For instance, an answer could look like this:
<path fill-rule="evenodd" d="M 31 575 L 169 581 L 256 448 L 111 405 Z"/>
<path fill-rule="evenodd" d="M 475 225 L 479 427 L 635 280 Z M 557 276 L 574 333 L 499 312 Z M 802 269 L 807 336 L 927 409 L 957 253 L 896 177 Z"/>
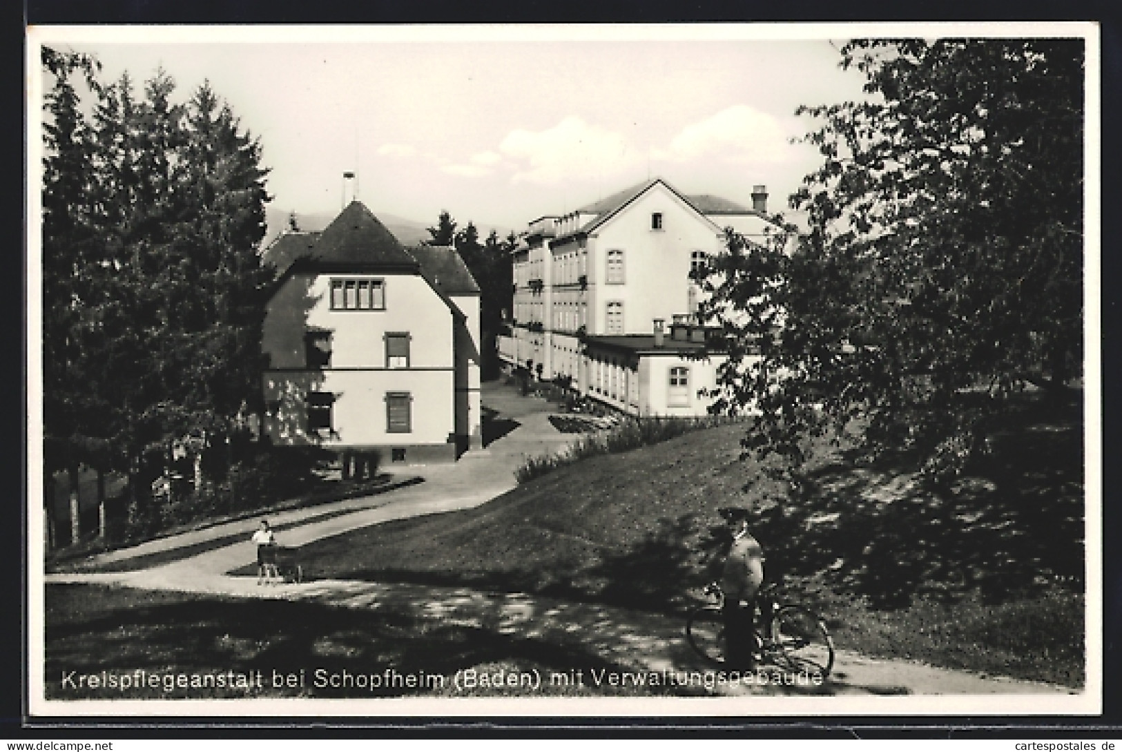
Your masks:
<path fill-rule="evenodd" d="M 614 600 L 640 605 L 673 599 L 698 583 L 697 552 L 721 529 L 716 508 L 746 498 L 741 488 L 754 473 L 737 459 L 742 430 L 594 457 L 476 510 L 367 528 L 305 553 L 323 577 L 397 574 L 558 595 L 619 590 Z M 632 569 L 640 576 L 627 577 Z"/>

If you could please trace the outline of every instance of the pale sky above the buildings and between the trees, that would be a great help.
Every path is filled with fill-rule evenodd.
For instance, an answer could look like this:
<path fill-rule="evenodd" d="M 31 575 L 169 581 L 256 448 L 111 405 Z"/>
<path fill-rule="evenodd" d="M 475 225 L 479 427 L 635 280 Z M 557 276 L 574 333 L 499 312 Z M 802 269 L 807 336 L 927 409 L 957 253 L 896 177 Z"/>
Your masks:
<path fill-rule="evenodd" d="M 782 210 L 820 162 L 791 143 L 813 126 L 795 108 L 864 94 L 861 74 L 838 67 L 844 38 L 754 38 L 774 34 L 102 27 L 43 39 L 93 53 L 103 80 L 163 66 L 181 101 L 210 81 L 260 138 L 275 210 L 335 212 L 353 171 L 376 214 L 432 223 L 448 210 L 522 230 L 656 176 L 745 205 L 766 185 L 769 209 Z"/>

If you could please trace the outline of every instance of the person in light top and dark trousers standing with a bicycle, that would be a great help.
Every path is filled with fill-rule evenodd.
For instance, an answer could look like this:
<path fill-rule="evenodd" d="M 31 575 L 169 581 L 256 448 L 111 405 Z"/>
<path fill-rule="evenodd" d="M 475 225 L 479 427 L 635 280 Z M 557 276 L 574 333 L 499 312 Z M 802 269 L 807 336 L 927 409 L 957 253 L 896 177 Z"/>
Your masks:
<path fill-rule="evenodd" d="M 764 550 L 748 532 L 747 510 L 728 507 L 720 510 L 720 514 L 733 533 L 720 578 L 725 593 L 726 659 L 733 666 L 752 669 L 754 645 L 751 635 L 756 594 L 764 581 Z"/>

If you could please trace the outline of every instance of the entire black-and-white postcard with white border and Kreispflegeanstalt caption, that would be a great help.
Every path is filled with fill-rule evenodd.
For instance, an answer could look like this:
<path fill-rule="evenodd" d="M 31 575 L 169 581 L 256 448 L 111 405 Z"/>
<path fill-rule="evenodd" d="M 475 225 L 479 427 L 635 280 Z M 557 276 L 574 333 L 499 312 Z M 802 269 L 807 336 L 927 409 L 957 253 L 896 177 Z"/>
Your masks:
<path fill-rule="evenodd" d="M 1102 712 L 1094 24 L 27 42 L 31 717 Z"/>

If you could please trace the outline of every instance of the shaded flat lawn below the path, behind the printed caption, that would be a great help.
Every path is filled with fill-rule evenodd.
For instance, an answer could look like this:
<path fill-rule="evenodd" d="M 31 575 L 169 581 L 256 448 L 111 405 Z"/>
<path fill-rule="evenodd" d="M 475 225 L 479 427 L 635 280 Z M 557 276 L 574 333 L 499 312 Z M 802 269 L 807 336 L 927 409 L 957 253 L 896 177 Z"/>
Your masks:
<path fill-rule="evenodd" d="M 478 680 L 482 675 L 532 675 L 536 669 L 549 676 L 574 666 L 611 672 L 623 667 L 585 651 L 576 640 L 546 643 L 307 602 L 50 585 L 46 625 L 48 699 L 650 696 L 666 690 L 548 682 L 532 691 L 484 687 Z M 465 670 L 476 671 L 479 686 L 461 680 L 457 688 L 454 676 Z M 114 686 L 107 688 L 110 676 Z M 135 686 L 138 676 L 156 676 L 156 686 Z M 175 686 L 180 676 L 187 686 Z M 100 686 L 91 687 L 90 677 Z M 125 677 L 134 686 L 121 689 Z M 201 686 L 192 687 L 192 681 Z"/>

